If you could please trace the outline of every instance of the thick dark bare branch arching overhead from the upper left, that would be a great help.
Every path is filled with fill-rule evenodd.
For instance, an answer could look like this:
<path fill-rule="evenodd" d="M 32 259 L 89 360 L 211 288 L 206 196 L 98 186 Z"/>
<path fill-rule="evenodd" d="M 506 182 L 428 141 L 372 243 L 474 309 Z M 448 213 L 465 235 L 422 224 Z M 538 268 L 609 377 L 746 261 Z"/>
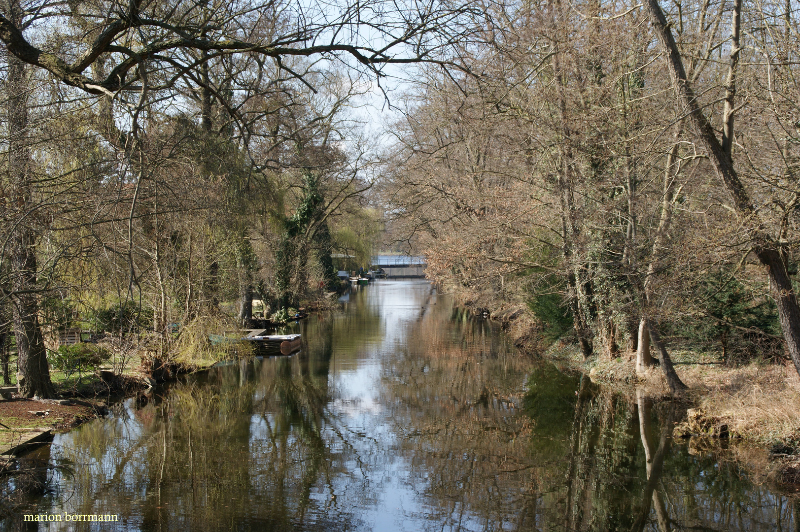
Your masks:
<path fill-rule="evenodd" d="M 272 58 L 284 74 L 295 73 L 285 58 L 296 56 L 353 58 L 378 74 L 390 63 L 446 63 L 442 51 L 451 43 L 470 38 L 466 18 L 482 18 L 480 6 L 446 2 L 386 4 L 382 0 L 360 4 L 312 2 L 309 5 L 269 2 L 81 2 L 65 5 L 33 2 L 34 18 L 55 21 L 79 17 L 88 22 L 75 34 L 64 54 L 41 50 L 22 34 L 21 21 L 0 15 L 0 40 L 22 62 L 48 70 L 68 86 L 90 94 L 116 97 L 120 90 L 139 90 L 146 83 L 142 64 L 162 70 L 153 90 L 174 86 L 188 71 L 198 71 L 202 82 L 207 62 L 230 54 Z M 197 54 L 195 54 L 197 52 Z M 199 54 L 199 55 L 198 55 Z M 398 55 L 399 54 L 399 55 Z M 86 74 L 102 59 L 106 74 Z M 210 89 L 210 87 L 206 87 Z M 208 102 L 210 93 L 203 94 Z"/>

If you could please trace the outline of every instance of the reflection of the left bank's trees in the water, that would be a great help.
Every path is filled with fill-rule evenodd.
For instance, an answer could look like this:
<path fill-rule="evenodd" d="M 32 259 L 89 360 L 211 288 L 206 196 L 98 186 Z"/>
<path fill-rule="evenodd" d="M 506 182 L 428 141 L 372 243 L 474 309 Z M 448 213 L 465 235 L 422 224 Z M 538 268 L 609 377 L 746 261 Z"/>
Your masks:
<path fill-rule="evenodd" d="M 347 474 L 330 451 L 328 400 L 320 356 L 241 361 L 128 402 L 62 449 L 90 465 L 63 479 L 53 511 L 120 514 L 141 530 L 350 530 L 352 516 L 320 497 Z"/>

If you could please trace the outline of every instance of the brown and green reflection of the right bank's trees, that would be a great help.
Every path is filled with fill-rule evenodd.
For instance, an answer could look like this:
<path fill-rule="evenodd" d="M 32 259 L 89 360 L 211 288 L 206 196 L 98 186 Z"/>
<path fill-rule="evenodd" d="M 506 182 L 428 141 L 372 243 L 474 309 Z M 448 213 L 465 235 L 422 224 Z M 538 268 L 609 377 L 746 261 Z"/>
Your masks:
<path fill-rule="evenodd" d="M 531 370 L 463 317 L 423 317 L 384 375 L 430 530 L 794 530 L 790 499 L 670 448 L 677 406 Z"/>

